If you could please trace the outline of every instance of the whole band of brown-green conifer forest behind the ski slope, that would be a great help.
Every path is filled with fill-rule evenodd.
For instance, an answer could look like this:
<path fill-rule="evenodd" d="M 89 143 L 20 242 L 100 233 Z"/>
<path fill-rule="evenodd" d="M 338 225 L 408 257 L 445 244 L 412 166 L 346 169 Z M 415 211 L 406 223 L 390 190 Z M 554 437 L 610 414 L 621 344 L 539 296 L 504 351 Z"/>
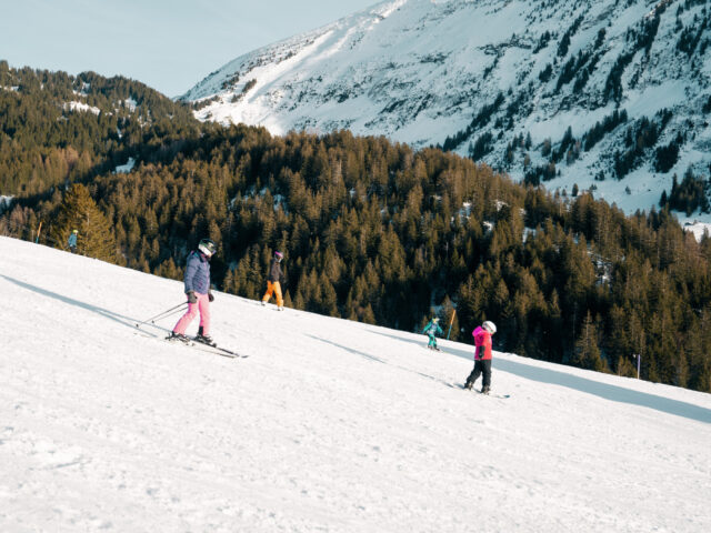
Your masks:
<path fill-rule="evenodd" d="M 384 138 L 201 123 L 132 80 L 3 61 L 0 195 L 0 234 L 67 249 L 78 229 L 79 253 L 173 279 L 210 237 L 217 289 L 251 299 L 281 250 L 288 306 L 408 331 L 437 313 L 463 342 L 492 320 L 497 350 L 622 375 L 641 354 L 643 379 L 711 392 L 711 240 L 668 208 L 625 217 Z"/>

